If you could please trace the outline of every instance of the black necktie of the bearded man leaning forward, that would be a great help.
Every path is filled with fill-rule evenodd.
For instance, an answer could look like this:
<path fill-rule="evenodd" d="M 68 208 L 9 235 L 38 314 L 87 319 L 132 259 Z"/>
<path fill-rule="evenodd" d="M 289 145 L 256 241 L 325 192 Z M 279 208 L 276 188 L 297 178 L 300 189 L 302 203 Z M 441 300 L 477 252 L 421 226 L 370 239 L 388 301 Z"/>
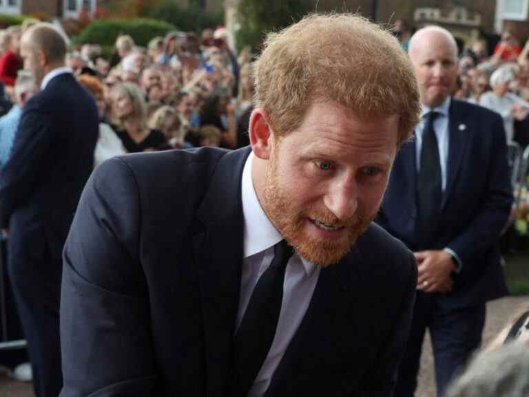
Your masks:
<path fill-rule="evenodd" d="M 267 358 L 276 335 L 284 273 L 293 248 L 282 240 L 274 247 L 272 263 L 259 278 L 235 336 L 231 397 L 245 397 Z"/>

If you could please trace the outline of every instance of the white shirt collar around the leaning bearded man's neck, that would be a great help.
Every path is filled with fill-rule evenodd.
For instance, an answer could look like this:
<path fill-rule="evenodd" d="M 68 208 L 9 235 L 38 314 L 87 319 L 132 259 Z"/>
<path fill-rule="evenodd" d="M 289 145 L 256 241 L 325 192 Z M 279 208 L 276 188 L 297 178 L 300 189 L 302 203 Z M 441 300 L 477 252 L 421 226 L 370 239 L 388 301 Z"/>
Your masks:
<path fill-rule="evenodd" d="M 253 152 L 250 153 L 245 168 L 242 170 L 242 216 L 244 217 L 244 257 L 251 257 L 268 248 L 275 246 L 283 237 L 264 213 L 257 198 L 256 190 L 253 188 L 253 177 L 251 166 L 253 164 Z M 301 261 L 307 275 L 311 275 L 316 266 L 301 257 Z"/>

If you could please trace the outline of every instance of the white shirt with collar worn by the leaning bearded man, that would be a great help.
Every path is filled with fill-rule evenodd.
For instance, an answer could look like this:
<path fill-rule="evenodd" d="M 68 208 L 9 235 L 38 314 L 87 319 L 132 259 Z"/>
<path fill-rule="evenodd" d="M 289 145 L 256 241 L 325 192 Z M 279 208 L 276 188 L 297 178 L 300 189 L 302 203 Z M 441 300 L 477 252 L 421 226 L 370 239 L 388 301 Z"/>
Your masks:
<path fill-rule="evenodd" d="M 250 153 L 242 171 L 242 215 L 244 216 L 244 261 L 240 283 L 240 301 L 236 326 L 239 328 L 248 302 L 262 273 L 273 259 L 273 246 L 283 237 L 264 213 L 253 189 Z M 267 391 L 273 372 L 276 371 L 285 350 L 309 308 L 320 266 L 294 254 L 284 276 L 283 300 L 276 336 L 267 358 L 256 376 L 248 397 L 260 397 Z"/>

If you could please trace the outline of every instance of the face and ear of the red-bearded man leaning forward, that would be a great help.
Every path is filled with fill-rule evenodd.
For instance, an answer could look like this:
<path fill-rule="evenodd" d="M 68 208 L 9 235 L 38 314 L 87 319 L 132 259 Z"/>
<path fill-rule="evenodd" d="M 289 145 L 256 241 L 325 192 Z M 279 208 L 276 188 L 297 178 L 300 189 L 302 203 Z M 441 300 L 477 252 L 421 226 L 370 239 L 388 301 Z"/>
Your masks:
<path fill-rule="evenodd" d="M 300 255 L 320 266 L 335 264 L 380 208 L 399 118 L 359 118 L 338 103 L 319 100 L 282 138 L 268 120 L 266 111 L 255 109 L 249 125 L 258 200 Z"/>

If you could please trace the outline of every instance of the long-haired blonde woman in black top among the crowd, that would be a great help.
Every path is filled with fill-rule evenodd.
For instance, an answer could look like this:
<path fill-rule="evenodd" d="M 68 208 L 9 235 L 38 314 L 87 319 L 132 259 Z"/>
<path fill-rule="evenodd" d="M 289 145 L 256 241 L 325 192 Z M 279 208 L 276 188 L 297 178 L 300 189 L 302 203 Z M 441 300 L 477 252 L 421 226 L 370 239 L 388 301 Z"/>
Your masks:
<path fill-rule="evenodd" d="M 127 152 L 168 149 L 163 133 L 147 127 L 147 105 L 140 87 L 129 83 L 115 85 L 110 100 L 112 125 Z"/>

